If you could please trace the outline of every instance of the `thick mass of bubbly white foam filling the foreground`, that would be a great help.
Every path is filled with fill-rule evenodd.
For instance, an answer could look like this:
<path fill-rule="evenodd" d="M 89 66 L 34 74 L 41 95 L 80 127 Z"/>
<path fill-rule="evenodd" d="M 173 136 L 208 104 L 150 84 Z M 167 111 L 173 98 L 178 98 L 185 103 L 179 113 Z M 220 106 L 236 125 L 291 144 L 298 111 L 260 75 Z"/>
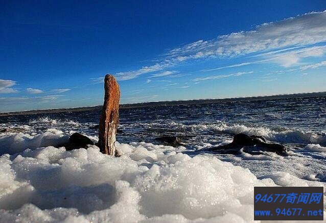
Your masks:
<path fill-rule="evenodd" d="M 60 132 L 54 135 L 61 139 Z M 34 138 L 27 141 L 36 145 Z M 120 158 L 96 146 L 2 155 L 0 221 L 248 222 L 254 186 L 326 186 L 284 172 L 258 180 L 249 169 L 214 156 L 191 158 L 184 147 L 117 147 Z"/>

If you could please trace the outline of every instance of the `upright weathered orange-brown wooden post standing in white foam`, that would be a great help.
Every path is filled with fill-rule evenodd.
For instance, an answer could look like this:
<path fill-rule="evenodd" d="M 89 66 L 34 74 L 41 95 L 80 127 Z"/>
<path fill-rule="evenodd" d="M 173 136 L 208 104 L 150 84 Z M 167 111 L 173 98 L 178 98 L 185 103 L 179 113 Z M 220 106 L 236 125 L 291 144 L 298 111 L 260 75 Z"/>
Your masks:
<path fill-rule="evenodd" d="M 110 75 L 104 79 L 104 104 L 99 125 L 99 147 L 101 152 L 118 156 L 115 150 L 115 133 L 119 123 L 120 88 L 117 80 Z"/>

